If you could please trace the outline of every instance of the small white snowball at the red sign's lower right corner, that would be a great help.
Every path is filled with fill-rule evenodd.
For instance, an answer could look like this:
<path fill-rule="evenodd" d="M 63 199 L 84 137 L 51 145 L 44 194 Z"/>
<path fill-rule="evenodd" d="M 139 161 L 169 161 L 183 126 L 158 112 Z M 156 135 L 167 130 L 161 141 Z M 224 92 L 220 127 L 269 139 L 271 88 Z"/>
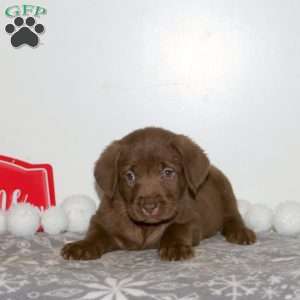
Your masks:
<path fill-rule="evenodd" d="M 43 229 L 49 234 L 58 234 L 68 227 L 68 219 L 62 207 L 50 207 L 42 214 Z"/>

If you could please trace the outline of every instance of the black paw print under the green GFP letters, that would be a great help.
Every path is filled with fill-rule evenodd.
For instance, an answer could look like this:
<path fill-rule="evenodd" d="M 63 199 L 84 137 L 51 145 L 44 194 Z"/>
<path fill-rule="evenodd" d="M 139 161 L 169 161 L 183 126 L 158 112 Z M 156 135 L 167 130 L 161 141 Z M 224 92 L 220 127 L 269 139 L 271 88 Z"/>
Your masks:
<path fill-rule="evenodd" d="M 5 26 L 5 31 L 7 33 L 13 33 L 10 42 L 14 47 L 19 47 L 23 44 L 27 44 L 31 47 L 37 46 L 39 43 L 38 34 L 43 33 L 45 30 L 44 25 L 42 24 L 36 24 L 34 26 L 35 19 L 33 17 L 28 17 L 25 22 L 27 26 L 25 26 L 23 18 L 17 17 L 14 20 L 15 25 L 7 24 Z M 20 27 L 17 28 L 17 31 L 16 26 Z"/>

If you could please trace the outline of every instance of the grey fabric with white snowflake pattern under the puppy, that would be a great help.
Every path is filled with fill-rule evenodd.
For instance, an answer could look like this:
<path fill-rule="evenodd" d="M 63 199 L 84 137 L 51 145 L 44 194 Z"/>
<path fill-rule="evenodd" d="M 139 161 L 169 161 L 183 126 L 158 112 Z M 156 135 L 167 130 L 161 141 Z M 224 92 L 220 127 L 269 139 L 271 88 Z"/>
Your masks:
<path fill-rule="evenodd" d="M 266 233 L 237 246 L 216 236 L 185 262 L 160 262 L 155 250 L 64 261 L 60 248 L 78 237 L 0 236 L 0 299 L 300 299 L 300 238 Z"/>

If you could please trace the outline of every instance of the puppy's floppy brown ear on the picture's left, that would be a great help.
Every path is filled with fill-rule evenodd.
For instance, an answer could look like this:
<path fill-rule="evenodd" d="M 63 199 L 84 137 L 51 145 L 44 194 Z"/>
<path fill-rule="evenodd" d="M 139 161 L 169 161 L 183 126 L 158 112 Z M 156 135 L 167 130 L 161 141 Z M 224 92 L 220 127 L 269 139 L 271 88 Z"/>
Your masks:
<path fill-rule="evenodd" d="M 113 197 L 117 189 L 120 153 L 120 144 L 117 141 L 111 143 L 102 152 L 94 168 L 94 176 L 98 186 L 110 198 Z"/>

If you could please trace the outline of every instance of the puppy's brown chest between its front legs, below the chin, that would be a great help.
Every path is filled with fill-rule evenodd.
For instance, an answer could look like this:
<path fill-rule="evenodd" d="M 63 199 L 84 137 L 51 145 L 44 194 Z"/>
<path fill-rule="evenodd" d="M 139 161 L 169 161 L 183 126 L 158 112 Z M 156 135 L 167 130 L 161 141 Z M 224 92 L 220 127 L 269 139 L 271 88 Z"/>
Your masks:
<path fill-rule="evenodd" d="M 167 225 L 132 225 L 115 237 L 116 242 L 121 249 L 140 250 L 157 248 L 166 227 Z"/>

